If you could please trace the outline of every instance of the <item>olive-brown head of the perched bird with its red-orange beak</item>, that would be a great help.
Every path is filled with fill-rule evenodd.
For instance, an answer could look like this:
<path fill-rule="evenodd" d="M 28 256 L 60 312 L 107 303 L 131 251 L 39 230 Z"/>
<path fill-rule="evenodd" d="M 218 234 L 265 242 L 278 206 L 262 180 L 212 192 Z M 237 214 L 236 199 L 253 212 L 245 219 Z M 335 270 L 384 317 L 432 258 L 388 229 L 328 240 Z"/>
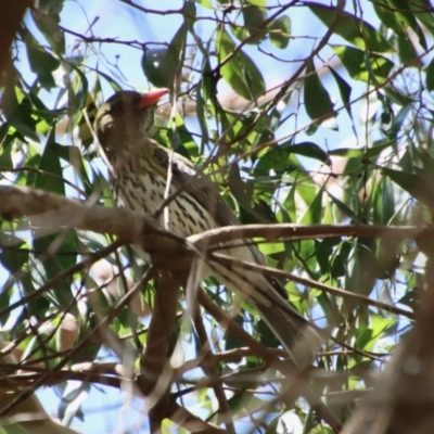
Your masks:
<path fill-rule="evenodd" d="M 153 105 L 168 92 L 155 89 L 148 93 L 122 90 L 108 98 L 97 113 L 94 130 L 105 151 L 116 152 L 133 140 L 141 141 L 153 122 Z"/>

